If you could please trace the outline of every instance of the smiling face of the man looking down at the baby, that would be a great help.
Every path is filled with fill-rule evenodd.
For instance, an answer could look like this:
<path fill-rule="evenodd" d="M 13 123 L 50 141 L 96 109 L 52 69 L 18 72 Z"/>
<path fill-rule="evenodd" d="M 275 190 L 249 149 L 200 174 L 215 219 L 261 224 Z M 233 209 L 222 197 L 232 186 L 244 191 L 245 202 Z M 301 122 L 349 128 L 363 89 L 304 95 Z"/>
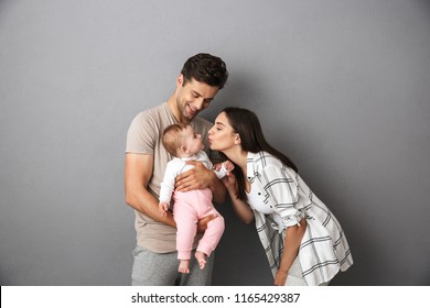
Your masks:
<path fill-rule="evenodd" d="M 184 77 L 180 75 L 176 84 L 176 105 L 181 117 L 190 122 L 198 112 L 209 107 L 217 92 L 218 87 L 195 79 L 187 80 L 184 85 Z"/>

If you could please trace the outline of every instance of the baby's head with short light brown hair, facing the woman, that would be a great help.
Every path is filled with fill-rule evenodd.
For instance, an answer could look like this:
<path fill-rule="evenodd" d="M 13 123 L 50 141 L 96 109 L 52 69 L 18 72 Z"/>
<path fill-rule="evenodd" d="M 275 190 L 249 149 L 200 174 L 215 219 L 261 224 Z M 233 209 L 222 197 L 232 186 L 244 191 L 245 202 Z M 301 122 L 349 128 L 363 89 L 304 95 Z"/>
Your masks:
<path fill-rule="evenodd" d="M 196 134 L 191 125 L 171 124 L 163 131 L 165 150 L 176 157 L 189 157 L 203 150 L 202 135 Z"/>

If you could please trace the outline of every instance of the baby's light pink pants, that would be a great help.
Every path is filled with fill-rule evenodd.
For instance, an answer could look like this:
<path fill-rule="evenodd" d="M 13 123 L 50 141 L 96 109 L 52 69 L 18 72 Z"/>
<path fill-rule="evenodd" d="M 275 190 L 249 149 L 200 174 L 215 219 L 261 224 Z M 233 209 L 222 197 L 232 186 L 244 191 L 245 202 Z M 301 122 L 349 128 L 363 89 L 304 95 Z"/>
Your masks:
<path fill-rule="evenodd" d="M 174 191 L 173 218 L 176 222 L 176 250 L 179 260 L 190 260 L 197 221 L 208 215 L 216 213 L 217 218 L 207 223 L 207 229 L 198 242 L 197 251 L 207 256 L 215 250 L 224 232 L 224 218 L 212 204 L 211 189 L 197 189 L 186 193 Z"/>

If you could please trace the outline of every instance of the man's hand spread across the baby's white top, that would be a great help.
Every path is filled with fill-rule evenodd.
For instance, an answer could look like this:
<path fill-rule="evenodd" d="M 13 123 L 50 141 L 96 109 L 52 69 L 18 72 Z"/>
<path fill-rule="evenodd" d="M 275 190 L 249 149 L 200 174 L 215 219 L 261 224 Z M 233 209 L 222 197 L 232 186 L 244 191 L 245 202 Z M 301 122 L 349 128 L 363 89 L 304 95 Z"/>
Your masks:
<path fill-rule="evenodd" d="M 189 161 L 186 164 L 194 165 L 194 168 L 176 177 L 176 190 L 185 193 L 209 188 L 214 183 L 214 178 L 216 178 L 214 172 L 207 169 L 202 162 Z"/>

